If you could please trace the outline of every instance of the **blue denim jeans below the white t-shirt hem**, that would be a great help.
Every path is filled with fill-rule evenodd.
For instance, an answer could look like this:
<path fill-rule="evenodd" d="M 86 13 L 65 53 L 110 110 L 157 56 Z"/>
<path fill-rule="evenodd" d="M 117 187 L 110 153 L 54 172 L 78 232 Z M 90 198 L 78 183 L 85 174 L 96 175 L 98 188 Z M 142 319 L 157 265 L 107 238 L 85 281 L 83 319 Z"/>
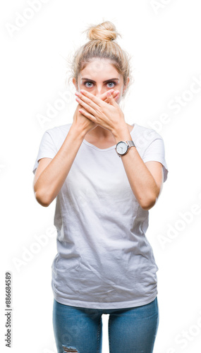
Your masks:
<path fill-rule="evenodd" d="M 101 353 L 102 314 L 109 314 L 110 353 L 152 353 L 159 325 L 157 297 L 124 309 L 87 309 L 54 299 L 53 328 L 58 353 Z"/>

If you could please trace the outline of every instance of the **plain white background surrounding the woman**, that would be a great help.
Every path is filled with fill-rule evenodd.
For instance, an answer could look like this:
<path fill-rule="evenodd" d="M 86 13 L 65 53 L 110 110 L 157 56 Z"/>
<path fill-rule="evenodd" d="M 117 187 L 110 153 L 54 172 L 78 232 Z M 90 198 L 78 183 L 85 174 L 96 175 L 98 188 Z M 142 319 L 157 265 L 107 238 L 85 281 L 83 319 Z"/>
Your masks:
<path fill-rule="evenodd" d="M 37 9 L 30 12 L 33 3 Z M 154 353 L 200 352 L 199 0 L 1 4 L 1 352 L 8 351 L 4 277 L 10 271 L 11 349 L 56 353 L 51 292 L 56 235 L 47 234 L 54 231 L 55 201 L 48 208 L 37 203 L 32 167 L 44 131 L 73 121 L 77 102 L 75 89 L 65 83 L 66 58 L 87 42 L 81 33 L 87 26 L 104 20 L 116 25 L 122 35 L 118 44 L 132 56 L 135 83 L 122 108 L 126 122 L 162 135 L 169 167 L 147 231 L 159 267 Z M 49 104 L 56 106 L 59 92 L 67 90 L 68 103 L 39 124 L 38 114 L 47 116 Z M 159 124 L 164 114 L 166 121 Z M 39 245 L 42 235 L 45 245 Z M 102 319 L 103 353 L 108 353 L 108 316 Z"/>

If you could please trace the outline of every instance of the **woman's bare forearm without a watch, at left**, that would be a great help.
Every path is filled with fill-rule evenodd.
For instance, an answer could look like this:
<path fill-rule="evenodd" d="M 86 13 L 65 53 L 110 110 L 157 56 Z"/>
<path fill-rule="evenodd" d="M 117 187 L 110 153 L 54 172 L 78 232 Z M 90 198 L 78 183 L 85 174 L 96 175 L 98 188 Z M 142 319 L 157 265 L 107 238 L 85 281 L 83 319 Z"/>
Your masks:
<path fill-rule="evenodd" d="M 72 124 L 63 145 L 39 174 L 34 184 L 34 191 L 37 201 L 42 205 L 48 206 L 58 195 L 84 138 L 85 131 Z"/>

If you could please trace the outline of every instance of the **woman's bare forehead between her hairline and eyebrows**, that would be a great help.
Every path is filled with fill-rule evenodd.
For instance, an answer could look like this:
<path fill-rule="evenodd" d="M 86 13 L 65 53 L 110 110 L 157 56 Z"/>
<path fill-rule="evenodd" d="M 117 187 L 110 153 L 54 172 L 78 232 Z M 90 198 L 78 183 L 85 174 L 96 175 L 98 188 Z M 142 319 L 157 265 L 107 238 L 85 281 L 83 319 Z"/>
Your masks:
<path fill-rule="evenodd" d="M 111 78 L 121 79 L 121 75 L 118 73 L 116 68 L 111 64 L 109 59 L 92 59 L 82 71 L 80 71 L 80 78 L 102 78 L 107 79 L 108 76 Z"/>

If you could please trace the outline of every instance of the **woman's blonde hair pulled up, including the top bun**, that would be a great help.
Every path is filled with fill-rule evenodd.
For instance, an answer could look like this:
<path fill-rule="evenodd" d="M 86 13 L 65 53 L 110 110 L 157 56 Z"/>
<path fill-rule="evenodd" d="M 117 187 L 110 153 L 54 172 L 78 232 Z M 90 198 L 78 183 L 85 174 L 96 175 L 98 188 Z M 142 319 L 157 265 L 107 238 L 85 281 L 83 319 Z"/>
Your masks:
<path fill-rule="evenodd" d="M 116 37 L 121 35 L 116 31 L 116 27 L 110 21 L 99 23 L 99 25 L 90 25 L 83 32 L 87 32 L 87 38 L 90 40 L 82 47 L 75 51 L 73 60 L 69 61 L 71 76 L 68 78 L 68 83 L 72 78 L 75 78 L 78 84 L 78 75 L 87 64 L 94 58 L 109 59 L 111 64 L 116 68 L 116 71 L 123 76 L 123 84 L 127 84 L 129 77 L 130 86 L 133 83 L 133 78 L 130 75 L 130 59 L 129 54 L 121 49 L 116 42 Z M 126 92 L 124 91 L 124 94 Z"/>

